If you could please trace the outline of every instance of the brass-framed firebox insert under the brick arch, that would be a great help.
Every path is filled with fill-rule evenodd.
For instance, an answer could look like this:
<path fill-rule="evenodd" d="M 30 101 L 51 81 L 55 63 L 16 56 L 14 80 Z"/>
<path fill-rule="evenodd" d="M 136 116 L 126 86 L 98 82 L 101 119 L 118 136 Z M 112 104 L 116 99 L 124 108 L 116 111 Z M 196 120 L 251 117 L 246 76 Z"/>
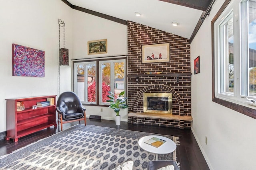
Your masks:
<path fill-rule="evenodd" d="M 172 94 L 171 93 L 144 93 L 143 112 L 172 114 Z"/>

